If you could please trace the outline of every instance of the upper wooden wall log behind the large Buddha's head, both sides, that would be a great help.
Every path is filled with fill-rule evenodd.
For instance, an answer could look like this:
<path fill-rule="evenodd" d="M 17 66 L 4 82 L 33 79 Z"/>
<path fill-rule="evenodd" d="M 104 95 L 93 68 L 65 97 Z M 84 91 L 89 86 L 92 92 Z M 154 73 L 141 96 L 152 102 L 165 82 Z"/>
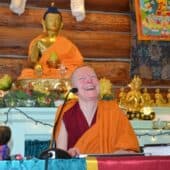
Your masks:
<path fill-rule="evenodd" d="M 44 9 L 27 9 L 18 16 L 7 7 L 0 7 L 0 26 L 41 28 Z M 88 12 L 83 22 L 77 22 L 70 11 L 62 11 L 65 30 L 130 32 L 130 17 L 125 14 Z"/>

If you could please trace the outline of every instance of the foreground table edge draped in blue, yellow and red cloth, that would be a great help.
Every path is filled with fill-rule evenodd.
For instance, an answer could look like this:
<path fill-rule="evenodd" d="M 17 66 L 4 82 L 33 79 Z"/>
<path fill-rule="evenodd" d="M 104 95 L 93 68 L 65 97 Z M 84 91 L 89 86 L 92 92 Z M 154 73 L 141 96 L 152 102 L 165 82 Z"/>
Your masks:
<path fill-rule="evenodd" d="M 117 156 L 48 160 L 49 170 L 167 170 L 170 156 Z M 45 160 L 0 161 L 1 170 L 43 170 Z"/>

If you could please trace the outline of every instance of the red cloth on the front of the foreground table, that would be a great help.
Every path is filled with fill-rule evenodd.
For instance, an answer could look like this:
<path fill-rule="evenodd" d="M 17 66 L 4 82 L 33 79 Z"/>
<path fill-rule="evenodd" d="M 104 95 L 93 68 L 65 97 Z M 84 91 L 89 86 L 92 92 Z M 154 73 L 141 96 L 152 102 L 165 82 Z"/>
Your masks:
<path fill-rule="evenodd" d="M 170 156 L 99 157 L 98 170 L 168 170 Z"/>

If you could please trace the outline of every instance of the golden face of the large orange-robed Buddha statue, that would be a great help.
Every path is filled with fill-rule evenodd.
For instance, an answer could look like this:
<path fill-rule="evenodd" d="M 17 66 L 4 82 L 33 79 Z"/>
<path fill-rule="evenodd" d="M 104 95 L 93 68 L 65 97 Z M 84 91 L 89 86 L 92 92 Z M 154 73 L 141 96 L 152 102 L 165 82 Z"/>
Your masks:
<path fill-rule="evenodd" d="M 52 31 L 58 33 L 62 28 L 61 16 L 57 13 L 48 13 L 44 21 L 47 31 Z"/>

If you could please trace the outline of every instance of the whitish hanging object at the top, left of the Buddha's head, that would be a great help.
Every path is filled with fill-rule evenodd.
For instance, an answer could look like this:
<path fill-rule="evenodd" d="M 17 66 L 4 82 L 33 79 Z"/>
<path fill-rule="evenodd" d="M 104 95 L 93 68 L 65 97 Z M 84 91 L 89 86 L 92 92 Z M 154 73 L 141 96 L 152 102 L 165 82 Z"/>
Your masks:
<path fill-rule="evenodd" d="M 21 15 L 25 11 L 25 4 L 27 0 L 11 0 L 10 9 L 12 12 Z"/>

